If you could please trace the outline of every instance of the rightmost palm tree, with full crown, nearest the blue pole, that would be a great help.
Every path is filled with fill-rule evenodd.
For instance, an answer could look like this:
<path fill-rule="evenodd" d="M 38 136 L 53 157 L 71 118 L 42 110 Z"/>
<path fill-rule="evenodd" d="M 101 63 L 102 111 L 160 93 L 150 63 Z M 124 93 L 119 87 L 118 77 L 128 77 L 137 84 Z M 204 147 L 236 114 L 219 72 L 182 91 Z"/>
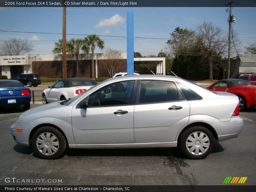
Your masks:
<path fill-rule="evenodd" d="M 86 53 L 89 53 L 89 49 L 91 47 L 92 51 L 92 79 L 94 79 L 94 60 L 93 60 L 93 54 L 95 47 L 98 46 L 101 50 L 104 48 L 104 41 L 100 39 L 99 36 L 93 34 L 89 35 L 84 38 L 84 47 L 83 51 Z"/>

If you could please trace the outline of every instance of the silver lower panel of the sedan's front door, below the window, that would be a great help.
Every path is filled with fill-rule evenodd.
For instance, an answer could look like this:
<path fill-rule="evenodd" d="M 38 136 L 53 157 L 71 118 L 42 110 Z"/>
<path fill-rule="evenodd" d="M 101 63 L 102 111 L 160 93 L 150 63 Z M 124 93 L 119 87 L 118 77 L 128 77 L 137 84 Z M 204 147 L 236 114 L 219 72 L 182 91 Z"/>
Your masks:
<path fill-rule="evenodd" d="M 126 114 L 114 114 L 117 110 Z M 134 143 L 134 105 L 72 110 L 76 144 Z"/>

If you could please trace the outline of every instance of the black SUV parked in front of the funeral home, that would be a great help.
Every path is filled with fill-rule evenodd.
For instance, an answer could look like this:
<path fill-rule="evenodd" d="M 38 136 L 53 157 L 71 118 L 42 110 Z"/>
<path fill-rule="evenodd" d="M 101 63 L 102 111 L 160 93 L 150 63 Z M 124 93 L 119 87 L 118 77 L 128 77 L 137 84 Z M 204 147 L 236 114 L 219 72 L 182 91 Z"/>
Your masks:
<path fill-rule="evenodd" d="M 20 74 L 14 75 L 11 79 L 20 81 L 23 85 L 28 87 L 36 87 L 41 84 L 41 79 L 37 74 Z"/>

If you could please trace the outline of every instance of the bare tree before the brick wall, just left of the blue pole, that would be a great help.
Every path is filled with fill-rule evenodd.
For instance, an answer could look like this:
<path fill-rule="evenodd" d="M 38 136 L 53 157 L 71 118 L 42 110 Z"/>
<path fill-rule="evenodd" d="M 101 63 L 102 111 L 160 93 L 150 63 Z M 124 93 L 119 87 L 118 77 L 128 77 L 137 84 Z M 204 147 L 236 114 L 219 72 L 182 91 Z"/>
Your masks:
<path fill-rule="evenodd" d="M 102 64 L 109 77 L 112 77 L 120 68 L 120 59 L 122 59 L 122 53 L 120 51 L 108 48 L 105 55 L 107 59 L 102 60 Z"/>

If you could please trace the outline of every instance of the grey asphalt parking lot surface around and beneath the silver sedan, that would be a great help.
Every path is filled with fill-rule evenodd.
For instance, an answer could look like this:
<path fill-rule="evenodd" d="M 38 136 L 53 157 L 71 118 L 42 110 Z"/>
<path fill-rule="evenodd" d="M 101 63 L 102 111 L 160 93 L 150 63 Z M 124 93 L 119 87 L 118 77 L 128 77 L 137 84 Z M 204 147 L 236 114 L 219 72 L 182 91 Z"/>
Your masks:
<path fill-rule="evenodd" d="M 245 125 L 238 138 L 216 142 L 203 160 L 184 159 L 176 148 L 73 149 L 57 160 L 39 159 L 10 133 L 21 113 L 0 110 L 1 185 L 222 185 L 226 177 L 256 184 L 255 109 L 240 113 Z"/>

